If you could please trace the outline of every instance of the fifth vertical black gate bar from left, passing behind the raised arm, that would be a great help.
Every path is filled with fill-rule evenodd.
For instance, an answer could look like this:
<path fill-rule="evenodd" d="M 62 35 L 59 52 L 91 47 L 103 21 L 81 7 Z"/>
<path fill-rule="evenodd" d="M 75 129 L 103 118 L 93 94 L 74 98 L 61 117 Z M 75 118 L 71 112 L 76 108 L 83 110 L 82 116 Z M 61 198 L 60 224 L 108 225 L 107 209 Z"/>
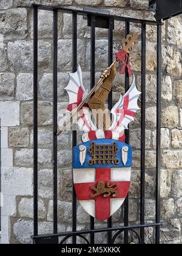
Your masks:
<path fill-rule="evenodd" d="M 113 62 L 113 18 L 109 19 L 109 34 L 108 34 L 108 66 L 110 66 Z M 109 93 L 108 97 L 108 108 L 112 109 L 112 90 Z M 112 227 L 112 217 L 107 220 L 107 227 Z M 112 243 L 112 232 L 107 232 L 107 243 Z"/>

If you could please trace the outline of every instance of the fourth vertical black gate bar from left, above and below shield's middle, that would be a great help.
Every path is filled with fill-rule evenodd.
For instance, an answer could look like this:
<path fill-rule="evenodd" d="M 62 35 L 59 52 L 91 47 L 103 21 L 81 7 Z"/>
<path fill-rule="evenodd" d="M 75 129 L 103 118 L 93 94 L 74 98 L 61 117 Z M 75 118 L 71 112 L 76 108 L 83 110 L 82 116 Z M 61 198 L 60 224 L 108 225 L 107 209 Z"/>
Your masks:
<path fill-rule="evenodd" d="M 90 33 L 90 88 L 95 85 L 95 16 L 91 18 L 91 33 Z M 90 229 L 95 229 L 95 220 L 90 216 Z M 90 233 L 90 243 L 94 244 L 95 234 Z"/>

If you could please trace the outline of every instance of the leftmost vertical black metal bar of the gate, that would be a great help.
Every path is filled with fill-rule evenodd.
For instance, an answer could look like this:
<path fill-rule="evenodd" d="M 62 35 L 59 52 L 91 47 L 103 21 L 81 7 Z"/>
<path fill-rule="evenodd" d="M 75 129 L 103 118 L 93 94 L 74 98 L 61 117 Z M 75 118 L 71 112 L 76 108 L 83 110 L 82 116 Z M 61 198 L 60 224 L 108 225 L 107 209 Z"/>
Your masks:
<path fill-rule="evenodd" d="M 33 7 L 33 233 L 38 235 L 38 7 Z"/>

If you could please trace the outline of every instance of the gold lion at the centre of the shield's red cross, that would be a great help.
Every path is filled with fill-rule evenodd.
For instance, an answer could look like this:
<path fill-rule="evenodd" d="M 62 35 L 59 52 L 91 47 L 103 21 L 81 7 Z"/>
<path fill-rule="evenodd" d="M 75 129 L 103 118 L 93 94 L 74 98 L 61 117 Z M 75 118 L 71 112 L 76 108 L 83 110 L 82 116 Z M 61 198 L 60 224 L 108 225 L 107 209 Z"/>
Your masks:
<path fill-rule="evenodd" d="M 115 186 L 115 188 L 113 188 Z M 99 196 L 100 194 L 103 194 L 103 197 L 108 197 L 112 194 L 113 197 L 117 196 L 117 185 L 113 184 L 110 186 L 110 182 L 107 182 L 107 188 L 105 188 L 105 183 L 103 181 L 99 181 L 97 184 L 97 187 L 91 187 L 91 190 L 95 191 L 95 194 L 91 194 L 91 198 L 95 198 L 96 196 Z"/>

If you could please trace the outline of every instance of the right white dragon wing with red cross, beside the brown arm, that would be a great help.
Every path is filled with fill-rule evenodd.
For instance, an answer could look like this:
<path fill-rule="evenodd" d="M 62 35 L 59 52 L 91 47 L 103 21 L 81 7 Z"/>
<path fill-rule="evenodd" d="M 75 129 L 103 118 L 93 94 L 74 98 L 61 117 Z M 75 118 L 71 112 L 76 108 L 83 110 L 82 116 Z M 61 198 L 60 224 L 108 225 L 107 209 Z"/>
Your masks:
<path fill-rule="evenodd" d="M 140 108 L 138 107 L 138 98 L 140 91 L 136 88 L 135 76 L 133 74 L 133 82 L 129 90 L 124 96 L 120 96 L 120 100 L 112 108 L 111 113 L 113 115 L 112 126 L 109 130 L 116 132 L 122 132 L 128 129 L 128 125 L 134 120 L 135 113 Z"/>

